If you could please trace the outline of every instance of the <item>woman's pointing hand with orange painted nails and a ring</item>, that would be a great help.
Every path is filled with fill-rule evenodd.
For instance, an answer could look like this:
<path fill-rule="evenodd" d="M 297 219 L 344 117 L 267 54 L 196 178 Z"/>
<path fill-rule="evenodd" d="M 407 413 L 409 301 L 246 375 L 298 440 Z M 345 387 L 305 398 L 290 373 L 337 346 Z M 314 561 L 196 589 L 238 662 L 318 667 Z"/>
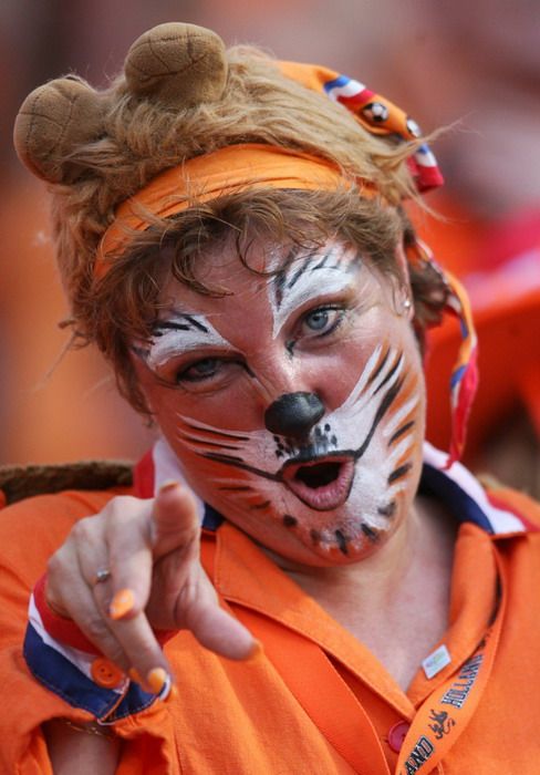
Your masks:
<path fill-rule="evenodd" d="M 186 487 L 169 483 L 149 500 L 113 498 L 98 515 L 80 520 L 52 556 L 48 603 L 153 691 L 159 683 L 153 676 L 163 675 L 153 671 L 170 674 L 153 628 L 188 629 L 207 649 L 246 659 L 257 643 L 219 607 L 199 546 L 196 505 Z M 111 576 L 96 582 L 105 568 Z"/>

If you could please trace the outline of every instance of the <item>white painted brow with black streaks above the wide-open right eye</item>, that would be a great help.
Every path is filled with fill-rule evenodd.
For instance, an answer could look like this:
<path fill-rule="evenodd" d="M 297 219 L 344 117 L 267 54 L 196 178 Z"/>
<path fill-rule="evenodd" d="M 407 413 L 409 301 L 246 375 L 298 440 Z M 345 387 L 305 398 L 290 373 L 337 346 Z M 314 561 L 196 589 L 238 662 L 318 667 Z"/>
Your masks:
<path fill-rule="evenodd" d="M 350 287 L 351 275 L 361 261 L 356 254 L 351 257 L 338 246 L 310 254 L 304 259 L 295 260 L 295 257 L 294 251 L 289 254 L 283 269 L 273 277 L 269 287 L 274 339 L 291 313 L 307 301 Z"/>

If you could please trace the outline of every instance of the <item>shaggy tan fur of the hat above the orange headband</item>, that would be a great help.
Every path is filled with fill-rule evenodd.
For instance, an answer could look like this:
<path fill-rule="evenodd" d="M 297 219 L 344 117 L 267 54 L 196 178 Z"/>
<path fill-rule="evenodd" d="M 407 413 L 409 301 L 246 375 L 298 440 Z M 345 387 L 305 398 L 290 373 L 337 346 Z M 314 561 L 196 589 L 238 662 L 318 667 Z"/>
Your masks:
<path fill-rule="evenodd" d="M 116 207 L 185 159 L 266 143 L 325 158 L 346 177 L 373 185 L 387 203 L 415 196 L 405 164 L 415 143 L 374 136 L 345 107 L 283 75 L 258 49 L 235 46 L 227 59 L 221 99 L 191 106 L 134 99 L 122 74 L 98 93 L 102 136 L 65 159 L 84 172 L 52 187 L 54 236 L 72 316 L 87 340 L 93 337 L 84 310 L 94 292 L 95 254 Z"/>

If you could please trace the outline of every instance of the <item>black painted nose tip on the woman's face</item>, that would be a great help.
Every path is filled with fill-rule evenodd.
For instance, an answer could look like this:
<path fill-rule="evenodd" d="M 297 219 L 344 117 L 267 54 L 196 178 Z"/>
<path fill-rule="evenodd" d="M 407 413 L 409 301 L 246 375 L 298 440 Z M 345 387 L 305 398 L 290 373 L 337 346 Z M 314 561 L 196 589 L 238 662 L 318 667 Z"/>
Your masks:
<path fill-rule="evenodd" d="M 279 436 L 304 438 L 323 414 L 315 393 L 285 393 L 264 412 L 264 425 Z"/>

